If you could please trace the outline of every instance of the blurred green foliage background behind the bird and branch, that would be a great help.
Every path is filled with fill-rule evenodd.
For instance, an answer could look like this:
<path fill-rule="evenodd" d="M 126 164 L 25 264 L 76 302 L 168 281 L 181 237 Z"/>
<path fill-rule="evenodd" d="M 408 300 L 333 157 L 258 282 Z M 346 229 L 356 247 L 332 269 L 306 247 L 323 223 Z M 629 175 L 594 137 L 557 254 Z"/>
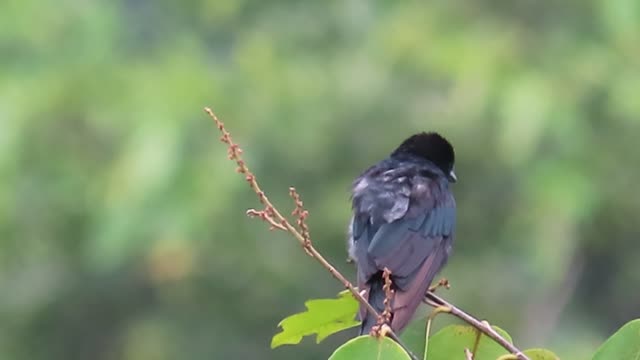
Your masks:
<path fill-rule="evenodd" d="M 437 130 L 443 295 L 564 359 L 640 316 L 637 0 L 5 0 L 1 359 L 326 359 L 353 335 L 269 349 L 340 286 L 244 216 L 204 106 L 351 277 L 352 179 Z"/>

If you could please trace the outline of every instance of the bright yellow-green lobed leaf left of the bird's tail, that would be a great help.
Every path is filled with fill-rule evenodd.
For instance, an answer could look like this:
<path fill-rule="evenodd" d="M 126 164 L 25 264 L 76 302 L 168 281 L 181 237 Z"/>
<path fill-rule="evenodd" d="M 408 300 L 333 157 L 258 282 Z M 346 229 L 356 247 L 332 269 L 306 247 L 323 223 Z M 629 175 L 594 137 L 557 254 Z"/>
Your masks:
<path fill-rule="evenodd" d="M 278 326 L 282 331 L 271 339 L 271 348 L 298 344 L 304 336 L 317 334 L 316 342 L 327 336 L 358 325 L 358 302 L 349 291 L 338 294 L 337 299 L 313 299 L 304 303 L 307 311 L 284 318 Z"/>

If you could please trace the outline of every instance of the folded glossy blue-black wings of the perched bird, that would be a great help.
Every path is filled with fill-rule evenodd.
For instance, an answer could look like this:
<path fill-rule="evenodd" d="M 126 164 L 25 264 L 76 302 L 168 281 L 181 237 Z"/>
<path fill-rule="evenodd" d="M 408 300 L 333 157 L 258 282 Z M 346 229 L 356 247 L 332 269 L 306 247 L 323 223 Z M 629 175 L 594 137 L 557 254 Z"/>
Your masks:
<path fill-rule="evenodd" d="M 388 268 L 400 290 L 394 298 L 394 329 L 410 320 L 450 251 L 455 201 L 435 181 L 425 185 L 421 200 L 412 199 L 400 218 L 380 225 L 362 214 L 353 220 L 359 286 L 368 289 L 367 282 Z"/>

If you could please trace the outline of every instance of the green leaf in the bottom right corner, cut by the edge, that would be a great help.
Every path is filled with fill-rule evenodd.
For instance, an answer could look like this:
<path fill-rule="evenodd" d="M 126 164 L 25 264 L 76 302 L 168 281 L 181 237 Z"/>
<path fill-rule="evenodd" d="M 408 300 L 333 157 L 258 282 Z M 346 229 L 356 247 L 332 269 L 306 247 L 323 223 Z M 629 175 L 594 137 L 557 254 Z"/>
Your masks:
<path fill-rule="evenodd" d="M 640 359 L 640 319 L 626 323 L 600 346 L 593 360 Z"/>

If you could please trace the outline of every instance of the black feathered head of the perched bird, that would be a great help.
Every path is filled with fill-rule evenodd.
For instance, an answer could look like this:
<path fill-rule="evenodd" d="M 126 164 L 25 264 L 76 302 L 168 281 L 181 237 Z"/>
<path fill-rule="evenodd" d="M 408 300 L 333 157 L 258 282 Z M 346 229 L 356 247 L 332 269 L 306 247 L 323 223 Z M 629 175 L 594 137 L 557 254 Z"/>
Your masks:
<path fill-rule="evenodd" d="M 450 182 L 458 180 L 453 171 L 455 162 L 453 146 L 438 133 L 422 132 L 412 135 L 393 151 L 391 157 L 403 155 L 413 155 L 429 160 L 446 174 Z"/>

